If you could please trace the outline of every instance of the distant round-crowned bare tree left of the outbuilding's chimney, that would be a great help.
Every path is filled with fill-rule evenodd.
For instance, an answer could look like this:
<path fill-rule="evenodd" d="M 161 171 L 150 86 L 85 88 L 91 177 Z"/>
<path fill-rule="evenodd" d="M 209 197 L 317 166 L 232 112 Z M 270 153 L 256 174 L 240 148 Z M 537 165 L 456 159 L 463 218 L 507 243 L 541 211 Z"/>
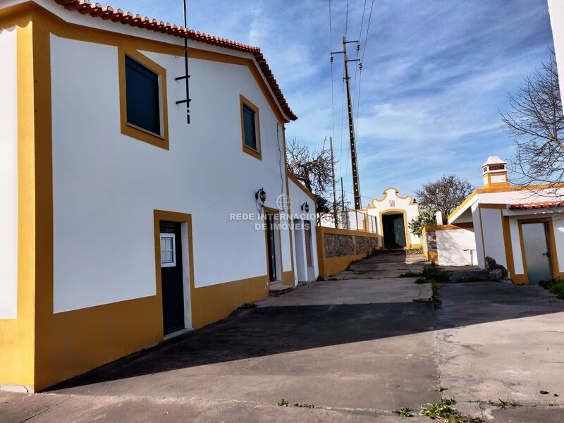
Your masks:
<path fill-rule="evenodd" d="M 473 190 L 474 186 L 466 179 L 450 174 L 424 183 L 415 195 L 421 207 L 440 211 L 444 221 Z"/>

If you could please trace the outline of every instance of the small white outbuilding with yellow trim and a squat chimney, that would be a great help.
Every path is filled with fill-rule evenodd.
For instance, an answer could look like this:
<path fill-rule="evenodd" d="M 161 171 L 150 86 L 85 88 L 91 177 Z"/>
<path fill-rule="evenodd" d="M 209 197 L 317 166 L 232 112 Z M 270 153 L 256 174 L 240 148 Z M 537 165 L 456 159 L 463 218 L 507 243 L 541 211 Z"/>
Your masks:
<path fill-rule="evenodd" d="M 564 188 L 513 186 L 507 164 L 489 157 L 484 188 L 474 190 L 448 216 L 427 226 L 424 252 L 436 264 L 486 268 L 486 257 L 508 270 L 514 283 L 539 283 L 564 269 Z"/>

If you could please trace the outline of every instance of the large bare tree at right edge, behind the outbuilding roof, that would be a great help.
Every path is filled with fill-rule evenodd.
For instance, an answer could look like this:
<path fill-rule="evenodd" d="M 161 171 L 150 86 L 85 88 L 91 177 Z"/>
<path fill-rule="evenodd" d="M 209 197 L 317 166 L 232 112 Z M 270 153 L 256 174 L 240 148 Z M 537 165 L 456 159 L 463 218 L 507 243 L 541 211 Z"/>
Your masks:
<path fill-rule="evenodd" d="M 500 114 L 515 142 L 510 170 L 519 185 L 549 185 L 556 195 L 564 178 L 564 116 L 553 50 L 525 85 L 509 95 L 509 106 Z"/>

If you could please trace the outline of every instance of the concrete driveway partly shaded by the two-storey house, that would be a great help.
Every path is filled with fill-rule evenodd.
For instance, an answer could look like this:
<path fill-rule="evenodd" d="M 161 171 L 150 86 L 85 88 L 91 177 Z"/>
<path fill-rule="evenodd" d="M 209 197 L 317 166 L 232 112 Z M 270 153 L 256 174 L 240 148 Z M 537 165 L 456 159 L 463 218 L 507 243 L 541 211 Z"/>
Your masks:
<path fill-rule="evenodd" d="M 563 421 L 564 301 L 456 283 L 434 312 L 429 284 L 397 277 L 424 263 L 376 255 L 48 393 L 0 393 L 0 422 L 400 422 L 439 385 L 484 419 Z"/>

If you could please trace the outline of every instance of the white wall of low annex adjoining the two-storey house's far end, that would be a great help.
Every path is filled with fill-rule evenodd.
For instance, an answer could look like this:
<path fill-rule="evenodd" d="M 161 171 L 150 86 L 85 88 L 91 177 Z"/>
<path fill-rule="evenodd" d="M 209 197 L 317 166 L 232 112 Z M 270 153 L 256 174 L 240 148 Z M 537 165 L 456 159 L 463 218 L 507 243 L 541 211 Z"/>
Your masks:
<path fill-rule="evenodd" d="M 293 227 L 295 283 L 312 282 L 317 279 L 317 276 L 319 276 L 317 236 L 315 231 L 315 202 L 309 198 L 309 196 L 291 179 L 288 179 L 288 188 L 290 189 L 290 200 L 292 201 L 292 219 L 294 222 L 299 221 L 301 226 L 301 228 Z M 309 215 L 302 212 L 301 206 L 304 203 L 309 205 Z M 307 269 L 305 231 L 303 229 L 303 224 L 306 221 L 309 221 L 312 229 L 312 266 L 309 269 Z"/>

